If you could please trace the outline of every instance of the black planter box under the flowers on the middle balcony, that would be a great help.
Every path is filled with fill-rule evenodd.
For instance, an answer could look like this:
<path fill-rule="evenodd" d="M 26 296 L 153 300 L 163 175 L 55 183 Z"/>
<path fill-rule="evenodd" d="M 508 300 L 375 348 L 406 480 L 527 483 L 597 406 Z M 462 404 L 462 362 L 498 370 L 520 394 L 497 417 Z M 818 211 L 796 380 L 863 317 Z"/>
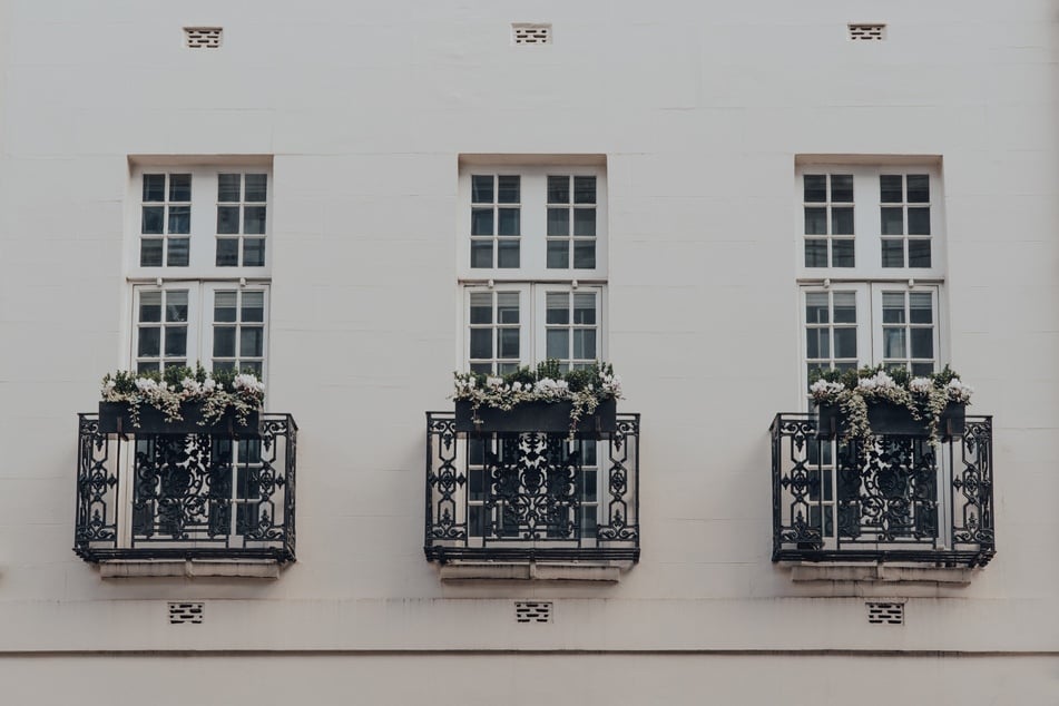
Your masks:
<path fill-rule="evenodd" d="M 614 432 L 618 429 L 616 400 L 604 400 L 596 406 L 594 414 L 585 414 L 572 430 L 576 433 Z M 455 430 L 468 432 L 545 432 L 566 434 L 571 431 L 570 413 L 573 403 L 568 400 L 558 402 L 523 402 L 510 410 L 494 406 L 474 405 L 469 400 L 455 401 Z M 480 423 L 477 423 L 480 422 Z"/>

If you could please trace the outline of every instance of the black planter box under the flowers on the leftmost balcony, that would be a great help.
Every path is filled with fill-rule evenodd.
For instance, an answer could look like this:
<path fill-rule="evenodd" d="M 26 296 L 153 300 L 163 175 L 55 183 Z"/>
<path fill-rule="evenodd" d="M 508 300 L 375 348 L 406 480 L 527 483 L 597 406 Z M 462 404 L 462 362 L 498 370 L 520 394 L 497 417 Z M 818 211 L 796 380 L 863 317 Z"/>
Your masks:
<path fill-rule="evenodd" d="M 167 420 L 165 412 L 149 404 L 139 405 L 139 426 L 133 423 L 128 402 L 99 403 L 99 431 L 105 434 L 224 434 L 254 437 L 258 433 L 261 414 L 246 414 L 246 423 L 239 422 L 235 410 L 226 410 L 216 422 L 203 424 L 202 402 L 185 402 L 180 405 L 180 420 Z"/>

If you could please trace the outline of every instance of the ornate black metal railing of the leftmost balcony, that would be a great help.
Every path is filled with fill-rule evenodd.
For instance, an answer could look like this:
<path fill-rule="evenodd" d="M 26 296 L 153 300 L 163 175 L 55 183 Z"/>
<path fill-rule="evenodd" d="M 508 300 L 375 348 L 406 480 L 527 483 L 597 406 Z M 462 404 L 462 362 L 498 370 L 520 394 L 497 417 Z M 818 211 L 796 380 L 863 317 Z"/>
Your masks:
<path fill-rule="evenodd" d="M 79 414 L 73 550 L 105 559 L 294 560 L 297 424 L 256 434 L 104 433 Z"/>

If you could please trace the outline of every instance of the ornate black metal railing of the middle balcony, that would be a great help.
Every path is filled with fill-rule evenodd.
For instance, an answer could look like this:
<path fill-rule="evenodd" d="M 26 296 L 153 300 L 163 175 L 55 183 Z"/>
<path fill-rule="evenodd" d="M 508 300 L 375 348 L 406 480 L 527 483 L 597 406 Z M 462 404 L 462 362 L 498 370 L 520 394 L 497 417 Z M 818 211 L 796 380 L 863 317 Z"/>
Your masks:
<path fill-rule="evenodd" d="M 432 561 L 639 559 L 639 414 L 591 434 L 457 431 L 426 413 Z"/>

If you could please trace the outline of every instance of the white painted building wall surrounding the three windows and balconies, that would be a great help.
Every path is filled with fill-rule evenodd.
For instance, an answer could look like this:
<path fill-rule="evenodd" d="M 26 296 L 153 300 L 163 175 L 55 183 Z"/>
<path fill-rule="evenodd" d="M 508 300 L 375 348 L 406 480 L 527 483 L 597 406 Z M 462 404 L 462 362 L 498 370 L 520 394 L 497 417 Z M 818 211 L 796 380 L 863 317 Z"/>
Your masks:
<path fill-rule="evenodd" d="M 953 703 L 1057 693 L 1041 656 L 1059 653 L 1055 3 L 7 0 L 0 20 L 0 650 L 67 653 L 0 658 L 11 703 L 122 649 L 1006 653 L 650 658 L 671 682 L 628 683 L 692 703 L 718 678 L 762 703 L 781 690 L 749 675 L 801 684 L 804 667 L 806 689 L 844 675 L 814 695 L 836 703 L 891 665 Z M 527 20 L 555 45 L 510 46 Z M 846 40 L 875 20 L 886 41 Z M 186 50 L 186 24 L 223 26 L 223 48 Z M 607 155 L 609 350 L 621 409 L 644 415 L 643 559 L 614 587 L 441 585 L 422 557 L 423 412 L 448 405 L 458 365 L 458 157 L 478 153 Z M 298 562 L 278 581 L 102 581 L 70 551 L 75 413 L 126 364 L 127 157 L 153 154 L 274 156 L 268 406 L 301 426 Z M 943 158 L 943 335 L 974 411 L 996 415 L 999 555 L 967 588 L 856 589 L 908 599 L 900 628 L 768 560 L 766 429 L 802 404 L 797 154 Z M 556 601 L 553 625 L 513 624 L 528 597 Z M 206 624 L 167 625 L 185 598 Z M 285 659 L 302 684 L 355 663 L 366 693 L 405 695 L 372 703 L 489 659 L 498 689 L 521 674 L 480 655 Z M 629 659 L 578 657 L 558 680 Z M 196 668 L 220 682 L 235 664 Z"/>

